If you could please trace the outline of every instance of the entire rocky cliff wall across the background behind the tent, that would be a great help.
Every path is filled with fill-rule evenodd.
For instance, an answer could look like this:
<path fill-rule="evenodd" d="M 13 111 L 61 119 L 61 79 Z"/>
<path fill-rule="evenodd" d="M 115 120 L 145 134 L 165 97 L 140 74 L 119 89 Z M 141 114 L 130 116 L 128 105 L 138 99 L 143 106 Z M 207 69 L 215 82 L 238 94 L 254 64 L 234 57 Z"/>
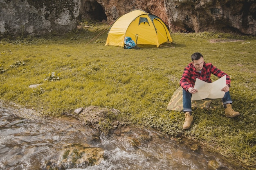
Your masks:
<path fill-rule="evenodd" d="M 133 9 L 157 15 L 172 32 L 256 35 L 255 0 L 0 0 L 0 36 L 66 33 L 77 20 L 112 23 Z"/>

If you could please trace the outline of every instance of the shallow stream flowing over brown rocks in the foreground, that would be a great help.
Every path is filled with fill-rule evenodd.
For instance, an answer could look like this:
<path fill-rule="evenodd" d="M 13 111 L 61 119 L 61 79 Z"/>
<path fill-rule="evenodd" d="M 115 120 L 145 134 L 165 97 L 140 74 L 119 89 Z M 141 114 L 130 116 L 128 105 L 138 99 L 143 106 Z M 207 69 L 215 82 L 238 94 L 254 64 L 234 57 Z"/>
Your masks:
<path fill-rule="evenodd" d="M 0 102 L 3 170 L 239 169 L 221 155 L 187 143 L 132 127 L 103 137 L 74 118 L 43 118 L 31 109 Z"/>

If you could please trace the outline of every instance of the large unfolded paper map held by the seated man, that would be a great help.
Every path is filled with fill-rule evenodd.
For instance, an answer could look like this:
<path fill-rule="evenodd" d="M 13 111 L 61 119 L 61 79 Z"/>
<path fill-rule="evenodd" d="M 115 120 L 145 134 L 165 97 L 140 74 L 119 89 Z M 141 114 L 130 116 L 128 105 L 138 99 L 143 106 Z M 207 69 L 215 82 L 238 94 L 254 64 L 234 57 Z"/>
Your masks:
<path fill-rule="evenodd" d="M 198 90 L 195 94 L 192 94 L 191 100 L 201 100 L 205 98 L 223 98 L 225 92 L 221 89 L 226 85 L 226 75 L 218 80 L 207 83 L 205 81 L 196 78 L 194 88 Z"/>

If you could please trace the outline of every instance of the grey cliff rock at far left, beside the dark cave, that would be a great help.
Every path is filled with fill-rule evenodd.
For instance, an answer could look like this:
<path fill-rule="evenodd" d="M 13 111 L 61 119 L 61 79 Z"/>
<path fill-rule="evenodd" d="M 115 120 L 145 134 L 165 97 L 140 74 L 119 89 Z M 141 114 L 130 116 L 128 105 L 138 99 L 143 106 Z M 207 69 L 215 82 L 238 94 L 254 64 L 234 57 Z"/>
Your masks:
<path fill-rule="evenodd" d="M 76 28 L 80 0 L 0 0 L 0 35 L 65 33 Z"/>

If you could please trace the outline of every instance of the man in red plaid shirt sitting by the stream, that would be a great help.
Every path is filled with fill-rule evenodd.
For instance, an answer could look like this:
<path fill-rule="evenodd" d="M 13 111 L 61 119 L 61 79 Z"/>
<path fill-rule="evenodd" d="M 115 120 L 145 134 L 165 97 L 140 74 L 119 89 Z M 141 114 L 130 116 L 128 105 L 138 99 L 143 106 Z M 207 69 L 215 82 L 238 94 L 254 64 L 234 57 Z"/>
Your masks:
<path fill-rule="evenodd" d="M 183 112 L 185 113 L 183 129 L 189 129 L 191 127 L 191 123 L 193 122 L 193 116 L 191 116 L 191 97 L 192 94 L 198 92 L 198 90 L 194 88 L 195 79 L 199 78 L 202 81 L 211 83 L 211 74 L 214 74 L 218 78 L 226 75 L 226 86 L 221 89 L 223 92 L 225 92 L 225 95 L 222 98 L 223 106 L 225 108 L 225 115 L 228 118 L 239 116 L 240 113 L 234 111 L 231 107 L 232 100 L 229 94 L 229 76 L 225 72 L 222 72 L 220 69 L 213 66 L 211 63 L 205 63 L 203 55 L 199 52 L 192 54 L 191 59 L 192 62 L 189 63 L 186 68 L 184 68 L 184 72 L 180 79 L 180 86 L 183 88 Z"/>

